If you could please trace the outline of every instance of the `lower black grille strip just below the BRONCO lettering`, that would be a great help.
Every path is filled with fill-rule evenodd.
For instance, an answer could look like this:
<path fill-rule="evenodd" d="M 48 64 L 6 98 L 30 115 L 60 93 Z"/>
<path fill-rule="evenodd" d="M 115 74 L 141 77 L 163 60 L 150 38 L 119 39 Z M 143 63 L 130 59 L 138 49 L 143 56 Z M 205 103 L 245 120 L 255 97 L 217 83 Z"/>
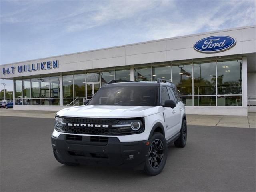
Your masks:
<path fill-rule="evenodd" d="M 118 135 L 121 134 L 117 128 L 98 128 L 98 127 L 73 127 L 63 126 L 62 131 L 66 133 L 91 134 L 91 135 Z"/>

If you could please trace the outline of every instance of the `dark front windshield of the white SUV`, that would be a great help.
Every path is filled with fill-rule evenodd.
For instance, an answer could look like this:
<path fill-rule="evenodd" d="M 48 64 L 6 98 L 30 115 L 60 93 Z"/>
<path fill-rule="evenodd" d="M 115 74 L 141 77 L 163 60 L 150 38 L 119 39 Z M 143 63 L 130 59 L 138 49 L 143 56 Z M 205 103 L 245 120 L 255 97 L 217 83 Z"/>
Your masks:
<path fill-rule="evenodd" d="M 105 86 L 88 105 L 158 106 L 157 86 Z"/>

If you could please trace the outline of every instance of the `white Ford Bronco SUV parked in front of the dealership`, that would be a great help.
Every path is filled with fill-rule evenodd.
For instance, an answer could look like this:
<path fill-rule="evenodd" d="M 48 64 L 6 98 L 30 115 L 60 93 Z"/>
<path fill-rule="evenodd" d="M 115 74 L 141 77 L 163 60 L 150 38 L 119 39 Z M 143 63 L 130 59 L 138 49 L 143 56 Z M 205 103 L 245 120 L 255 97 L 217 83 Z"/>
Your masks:
<path fill-rule="evenodd" d="M 126 166 L 159 174 L 167 145 L 186 145 L 184 104 L 167 80 L 112 80 L 83 106 L 56 114 L 52 147 L 65 165 Z"/>

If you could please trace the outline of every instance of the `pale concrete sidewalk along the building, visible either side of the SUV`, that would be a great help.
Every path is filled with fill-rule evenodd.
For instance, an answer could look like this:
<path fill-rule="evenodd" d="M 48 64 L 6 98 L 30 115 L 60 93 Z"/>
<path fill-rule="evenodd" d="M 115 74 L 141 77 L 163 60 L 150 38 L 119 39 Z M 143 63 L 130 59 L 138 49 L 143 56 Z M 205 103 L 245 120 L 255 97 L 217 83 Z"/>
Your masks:
<path fill-rule="evenodd" d="M 0 116 L 54 118 L 56 112 L 0 108 Z M 256 113 L 248 116 L 187 115 L 188 125 L 256 128 Z"/>

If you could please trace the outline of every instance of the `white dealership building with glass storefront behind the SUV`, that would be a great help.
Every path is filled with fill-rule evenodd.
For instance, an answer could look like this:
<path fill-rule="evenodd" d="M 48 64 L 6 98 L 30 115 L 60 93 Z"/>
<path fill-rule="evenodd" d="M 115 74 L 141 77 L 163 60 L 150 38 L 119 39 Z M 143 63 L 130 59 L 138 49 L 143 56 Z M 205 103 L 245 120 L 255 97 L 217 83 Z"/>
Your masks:
<path fill-rule="evenodd" d="M 247 115 L 256 112 L 256 26 L 16 62 L 0 70 L 0 78 L 13 80 L 14 110 L 57 111 L 82 105 L 113 79 L 164 78 L 178 87 L 187 114 Z"/>

